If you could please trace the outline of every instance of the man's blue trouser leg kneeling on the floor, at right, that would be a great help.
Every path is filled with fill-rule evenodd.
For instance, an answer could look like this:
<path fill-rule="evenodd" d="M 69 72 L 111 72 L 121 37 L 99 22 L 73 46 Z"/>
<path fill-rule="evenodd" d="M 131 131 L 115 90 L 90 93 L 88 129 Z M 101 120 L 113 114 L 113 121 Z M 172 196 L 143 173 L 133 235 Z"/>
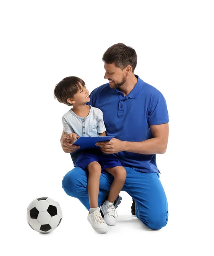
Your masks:
<path fill-rule="evenodd" d="M 123 190 L 134 199 L 137 218 L 151 229 L 161 229 L 168 221 L 168 203 L 159 175 L 135 168 L 125 169 Z"/>

